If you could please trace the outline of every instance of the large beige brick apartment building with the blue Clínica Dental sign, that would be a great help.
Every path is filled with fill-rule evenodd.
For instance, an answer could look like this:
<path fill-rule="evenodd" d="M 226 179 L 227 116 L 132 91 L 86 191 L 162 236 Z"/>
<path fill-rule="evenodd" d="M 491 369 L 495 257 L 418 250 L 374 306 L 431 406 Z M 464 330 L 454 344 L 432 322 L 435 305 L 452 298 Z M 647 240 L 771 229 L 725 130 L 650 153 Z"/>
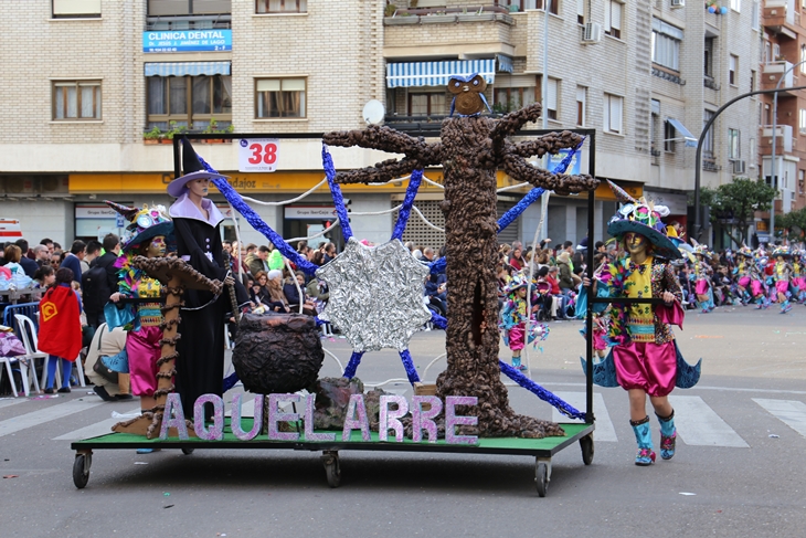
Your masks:
<path fill-rule="evenodd" d="M 544 1 L 8 1 L 15 24 L 0 74 L 0 114 L 17 127 L 0 131 L 2 215 L 21 219 L 32 240 L 114 231 L 106 198 L 170 203 L 172 147 L 152 144 L 157 133 L 232 126 L 265 137 L 300 135 L 280 139 L 274 172 L 240 172 L 237 144 L 197 150 L 244 196 L 269 203 L 254 204 L 269 225 L 286 238 L 306 235 L 332 210 L 326 189 L 271 204 L 324 177 L 320 143 L 303 135 L 362 128 L 363 106 L 378 99 L 386 125 L 436 137 L 450 109 L 445 75 L 478 72 L 495 114 L 544 102 L 548 128 L 596 129 L 596 175 L 666 203 L 672 220 L 688 224 L 691 140 L 708 114 L 757 84 L 755 2 L 736 0 L 735 10 L 714 14 L 692 1 L 551 0 L 547 21 Z M 757 169 L 757 103 L 738 104 L 714 124 L 703 184 L 730 181 L 741 170 L 736 161 L 747 173 Z M 331 152 L 339 169 L 390 158 L 359 148 Z M 581 170 L 590 158 L 586 146 Z M 439 181 L 441 170 L 426 177 Z M 379 212 L 399 203 L 405 184 L 344 192 L 353 211 Z M 499 186 L 509 184 L 499 173 Z M 499 211 L 527 190 L 502 192 Z M 606 188 L 597 198 L 593 240 L 615 208 Z M 441 199 L 441 189 L 425 186 L 416 202 L 437 224 Z M 548 235 L 581 240 L 586 215 L 582 197 L 552 196 Z M 371 241 L 385 241 L 393 226 L 390 214 L 353 221 L 356 235 Z M 531 242 L 540 221 L 535 204 L 502 239 Z M 242 233 L 264 242 L 248 225 Z M 443 240 L 417 219 L 405 239 L 434 246 Z"/>

